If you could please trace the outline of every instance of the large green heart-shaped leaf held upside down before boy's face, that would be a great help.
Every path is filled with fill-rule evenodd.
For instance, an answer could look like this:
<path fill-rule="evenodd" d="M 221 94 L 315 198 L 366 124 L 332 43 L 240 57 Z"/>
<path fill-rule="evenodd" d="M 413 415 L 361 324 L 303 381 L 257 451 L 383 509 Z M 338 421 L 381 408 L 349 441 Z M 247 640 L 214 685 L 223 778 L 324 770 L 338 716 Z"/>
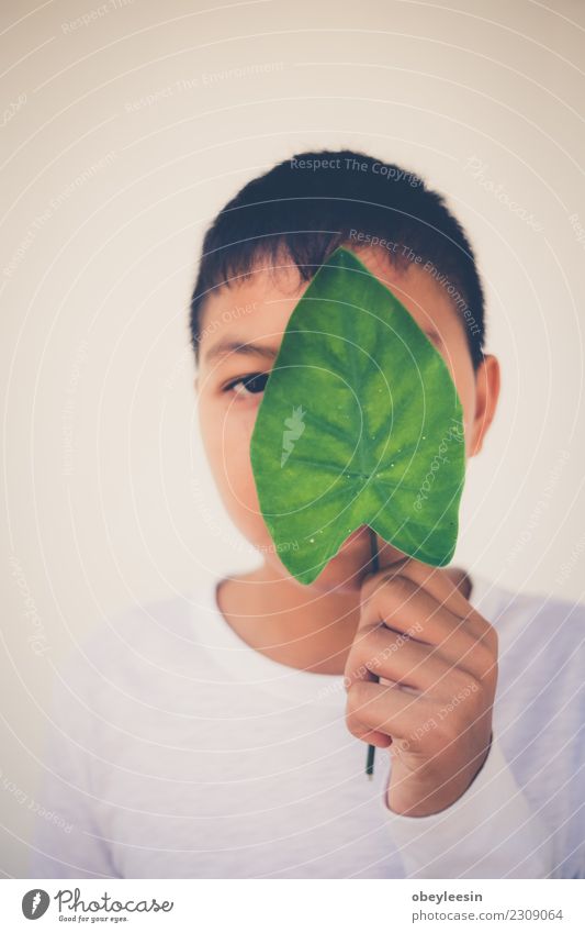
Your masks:
<path fill-rule="evenodd" d="M 286 569 L 312 584 L 363 524 L 410 557 L 448 564 L 463 440 L 442 356 L 337 249 L 291 314 L 251 436 L 260 509 Z"/>

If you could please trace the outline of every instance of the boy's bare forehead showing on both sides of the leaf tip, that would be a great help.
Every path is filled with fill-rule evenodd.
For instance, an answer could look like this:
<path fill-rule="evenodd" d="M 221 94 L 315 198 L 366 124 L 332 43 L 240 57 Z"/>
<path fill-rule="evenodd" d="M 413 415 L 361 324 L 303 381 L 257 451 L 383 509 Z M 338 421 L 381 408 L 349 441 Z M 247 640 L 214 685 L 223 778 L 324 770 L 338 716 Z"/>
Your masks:
<path fill-rule="evenodd" d="M 419 266 L 397 268 L 375 251 L 356 253 L 435 343 L 447 346 L 461 336 L 461 320 L 447 292 Z M 200 363 L 216 364 L 247 341 L 278 345 L 308 285 L 294 264 L 283 264 L 258 266 L 250 276 L 217 289 L 206 299 L 200 321 Z"/>

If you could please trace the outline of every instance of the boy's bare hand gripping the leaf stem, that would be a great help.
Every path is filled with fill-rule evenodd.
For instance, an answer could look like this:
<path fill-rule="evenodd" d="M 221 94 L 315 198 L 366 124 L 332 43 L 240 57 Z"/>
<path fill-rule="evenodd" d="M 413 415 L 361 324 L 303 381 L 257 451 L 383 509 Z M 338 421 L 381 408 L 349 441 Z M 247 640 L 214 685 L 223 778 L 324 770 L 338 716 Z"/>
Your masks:
<path fill-rule="evenodd" d="M 389 808 L 458 800 L 490 751 L 497 634 L 445 570 L 406 559 L 365 578 L 345 674 L 349 731 L 390 748 Z"/>

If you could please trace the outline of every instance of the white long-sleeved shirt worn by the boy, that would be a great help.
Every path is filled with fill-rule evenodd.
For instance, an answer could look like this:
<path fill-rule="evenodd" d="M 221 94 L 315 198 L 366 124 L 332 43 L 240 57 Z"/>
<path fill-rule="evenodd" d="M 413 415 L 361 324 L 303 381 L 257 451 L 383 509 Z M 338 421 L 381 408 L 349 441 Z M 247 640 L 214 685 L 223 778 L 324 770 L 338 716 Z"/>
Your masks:
<path fill-rule="evenodd" d="M 368 780 L 342 677 L 250 648 L 201 576 L 58 673 L 31 877 L 585 877 L 585 608 L 471 578 L 499 678 L 490 754 L 451 807 L 392 813 L 390 753 Z"/>

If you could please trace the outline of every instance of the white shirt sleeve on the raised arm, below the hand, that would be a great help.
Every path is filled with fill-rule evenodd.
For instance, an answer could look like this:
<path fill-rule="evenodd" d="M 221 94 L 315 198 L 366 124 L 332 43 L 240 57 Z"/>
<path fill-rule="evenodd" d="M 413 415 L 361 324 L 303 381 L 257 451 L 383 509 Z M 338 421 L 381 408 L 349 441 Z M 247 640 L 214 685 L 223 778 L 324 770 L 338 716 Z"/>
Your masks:
<path fill-rule="evenodd" d="M 550 831 L 508 767 L 495 734 L 465 792 L 428 817 L 394 813 L 383 800 L 390 834 L 409 878 L 548 878 Z"/>

